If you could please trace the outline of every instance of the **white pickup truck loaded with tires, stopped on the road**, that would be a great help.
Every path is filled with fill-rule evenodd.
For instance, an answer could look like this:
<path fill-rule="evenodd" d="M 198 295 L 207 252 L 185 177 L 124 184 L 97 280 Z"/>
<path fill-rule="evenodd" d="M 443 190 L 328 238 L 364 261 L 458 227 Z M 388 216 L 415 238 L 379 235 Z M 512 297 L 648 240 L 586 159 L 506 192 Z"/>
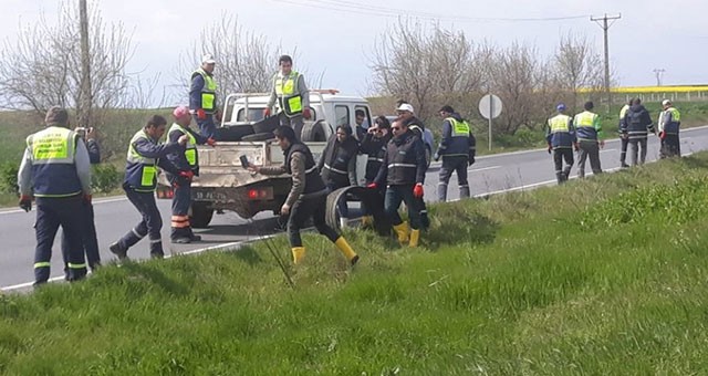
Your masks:
<path fill-rule="evenodd" d="M 191 185 L 192 227 L 208 227 L 215 210 L 232 210 L 247 219 L 260 211 L 277 213 L 280 210 L 290 191 L 290 177 L 253 175 L 241 166 L 239 159 L 246 156 L 257 166 L 283 163 L 283 152 L 272 137 L 275 118 L 263 119 L 267 103 L 268 94 L 227 96 L 217 145 L 198 147 L 199 176 Z M 336 91 L 311 91 L 310 108 L 312 118 L 305 122 L 301 139 L 310 147 L 315 160 L 339 125 L 355 127 L 354 113 L 357 109 L 366 114 L 364 125 L 372 124 L 371 111 L 363 97 L 339 95 Z M 355 129 L 352 130 L 356 135 Z M 357 157 L 356 167 L 358 184 L 363 185 L 366 156 Z M 157 197 L 167 199 L 171 196 L 171 187 L 162 178 Z"/>

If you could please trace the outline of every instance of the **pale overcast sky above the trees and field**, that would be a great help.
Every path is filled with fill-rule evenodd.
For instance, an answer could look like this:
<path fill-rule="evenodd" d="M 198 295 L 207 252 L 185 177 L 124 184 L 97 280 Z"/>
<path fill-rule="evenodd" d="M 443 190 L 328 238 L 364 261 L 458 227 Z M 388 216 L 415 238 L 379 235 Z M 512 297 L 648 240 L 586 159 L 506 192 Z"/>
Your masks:
<path fill-rule="evenodd" d="M 79 1 L 71 2 L 77 7 Z M 6 17 L 0 34 L 11 40 L 41 13 L 53 22 L 60 1 L 3 0 L 2 4 Z M 177 84 L 179 55 L 223 13 L 238 17 L 246 30 L 282 45 L 283 53 L 296 48 L 295 69 L 324 72 L 324 87 L 347 94 L 369 94 L 372 48 L 398 15 L 437 17 L 442 25 L 461 30 L 471 40 L 486 39 L 499 46 L 521 41 L 549 55 L 568 32 L 586 35 L 602 53 L 602 29 L 590 15 L 622 13 L 610 29 L 611 63 L 622 85 L 656 84 L 654 69 L 666 70 L 663 81 L 667 85 L 708 83 L 705 0 L 90 0 L 90 7 L 100 8 L 105 23 L 122 22 L 133 33 L 136 52 L 129 71 L 143 75 L 163 72 L 165 85 Z M 518 20 L 576 15 L 582 18 Z M 431 21 L 426 18 L 423 22 Z"/>

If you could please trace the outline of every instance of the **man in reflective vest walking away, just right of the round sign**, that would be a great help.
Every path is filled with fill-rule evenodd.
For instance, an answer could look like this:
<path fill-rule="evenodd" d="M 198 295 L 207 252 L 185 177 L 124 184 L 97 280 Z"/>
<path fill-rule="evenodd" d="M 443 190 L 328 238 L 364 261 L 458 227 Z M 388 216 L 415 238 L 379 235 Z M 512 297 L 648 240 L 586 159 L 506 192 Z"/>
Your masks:
<path fill-rule="evenodd" d="M 555 106 L 558 115 L 549 118 L 545 128 L 545 140 L 549 144 L 549 154 L 553 153 L 553 164 L 555 165 L 555 178 L 561 185 L 568 181 L 573 168 L 573 148 L 577 149 L 577 138 L 573 119 L 565 115 L 565 104 L 559 103 Z M 565 160 L 565 167 L 563 167 Z"/>

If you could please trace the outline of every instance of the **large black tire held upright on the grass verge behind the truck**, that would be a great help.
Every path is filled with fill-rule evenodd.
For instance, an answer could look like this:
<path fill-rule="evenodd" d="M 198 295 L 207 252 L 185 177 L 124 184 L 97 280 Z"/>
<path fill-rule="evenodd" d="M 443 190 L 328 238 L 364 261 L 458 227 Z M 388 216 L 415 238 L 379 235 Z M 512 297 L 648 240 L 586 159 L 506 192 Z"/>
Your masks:
<path fill-rule="evenodd" d="M 326 213 L 324 218 L 327 226 L 335 229 L 336 231 L 341 230 L 340 218 L 336 212 L 336 202 L 340 200 L 340 198 L 345 197 L 346 195 L 358 198 L 362 205 L 368 209 L 371 216 L 374 217 L 374 228 L 379 236 L 391 236 L 391 219 L 384 211 L 384 200 L 374 189 L 358 186 L 340 188 L 327 195 Z"/>

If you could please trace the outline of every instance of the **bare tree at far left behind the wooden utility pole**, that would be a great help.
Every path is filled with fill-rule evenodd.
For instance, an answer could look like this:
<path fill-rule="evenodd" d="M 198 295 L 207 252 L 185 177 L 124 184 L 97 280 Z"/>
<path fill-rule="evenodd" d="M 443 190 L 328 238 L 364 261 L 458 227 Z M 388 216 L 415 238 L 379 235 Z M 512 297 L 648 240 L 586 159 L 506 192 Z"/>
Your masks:
<path fill-rule="evenodd" d="M 126 95 L 125 66 L 132 56 L 131 38 L 122 24 L 105 25 L 97 7 L 88 13 L 92 72 L 90 106 L 107 108 Z M 43 113 L 52 105 L 77 107 L 81 100 L 81 35 L 79 9 L 63 2 L 55 24 L 25 27 L 17 40 L 6 40 L 0 52 L 2 107 Z M 84 98 L 85 100 L 85 98 Z M 96 124 L 96 118 L 92 119 Z"/>

